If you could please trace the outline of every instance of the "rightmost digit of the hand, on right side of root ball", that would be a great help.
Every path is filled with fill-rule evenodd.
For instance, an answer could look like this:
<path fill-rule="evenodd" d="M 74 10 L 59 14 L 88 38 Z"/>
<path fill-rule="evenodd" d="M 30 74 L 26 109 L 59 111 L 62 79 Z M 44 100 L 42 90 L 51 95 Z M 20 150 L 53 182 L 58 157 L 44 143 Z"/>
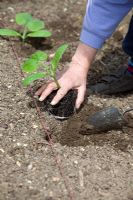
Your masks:
<path fill-rule="evenodd" d="M 81 106 L 81 104 L 84 101 L 84 97 L 85 97 L 85 91 L 86 91 L 86 87 L 80 87 L 78 89 L 78 95 L 77 95 L 77 99 L 76 99 L 76 109 L 79 109 L 79 107 Z"/>

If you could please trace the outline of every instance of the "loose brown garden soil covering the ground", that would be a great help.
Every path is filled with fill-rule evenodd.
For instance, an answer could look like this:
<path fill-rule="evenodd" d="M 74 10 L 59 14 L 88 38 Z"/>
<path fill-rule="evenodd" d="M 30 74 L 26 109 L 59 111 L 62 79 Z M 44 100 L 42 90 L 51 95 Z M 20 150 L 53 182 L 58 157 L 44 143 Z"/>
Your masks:
<path fill-rule="evenodd" d="M 13 19 L 21 11 L 44 19 L 53 36 L 41 41 L 37 48 L 52 55 L 60 44 L 68 42 L 70 48 L 62 60 L 67 65 L 78 45 L 85 3 L 85 0 L 45 0 L 45 3 L 2 0 L 0 24 L 16 27 Z M 121 49 L 121 42 L 129 18 L 130 15 L 99 52 L 88 75 L 87 87 L 103 74 L 126 65 L 128 57 Z M 133 94 L 90 95 L 78 113 L 62 122 L 43 112 L 45 126 L 52 133 L 52 151 L 36 110 L 28 107 L 31 97 L 22 87 L 21 68 L 10 44 L 0 38 L 0 200 L 72 199 L 65 183 L 74 200 L 132 200 L 133 128 L 91 135 L 80 133 L 87 132 L 86 121 L 96 111 L 107 106 L 116 106 L 121 111 L 132 108 Z M 36 49 L 18 39 L 12 39 L 12 45 L 20 63 Z M 130 115 L 133 116 L 132 112 Z"/>

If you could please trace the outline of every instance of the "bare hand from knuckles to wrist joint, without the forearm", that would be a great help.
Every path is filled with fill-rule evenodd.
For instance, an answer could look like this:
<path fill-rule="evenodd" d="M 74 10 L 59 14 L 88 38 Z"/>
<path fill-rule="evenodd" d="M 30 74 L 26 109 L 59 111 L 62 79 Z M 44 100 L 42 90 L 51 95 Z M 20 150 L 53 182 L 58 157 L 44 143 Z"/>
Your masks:
<path fill-rule="evenodd" d="M 76 89 L 78 91 L 78 95 L 75 107 L 78 109 L 84 101 L 87 72 L 87 68 L 81 66 L 78 62 L 72 61 L 68 69 L 58 79 L 61 88 L 57 91 L 57 94 L 52 100 L 51 105 L 57 104 L 70 89 Z M 43 101 L 53 90 L 56 89 L 56 84 L 54 82 L 51 82 L 48 83 L 47 86 L 46 84 L 43 85 L 35 93 L 35 95 L 40 96 L 39 100 Z"/>

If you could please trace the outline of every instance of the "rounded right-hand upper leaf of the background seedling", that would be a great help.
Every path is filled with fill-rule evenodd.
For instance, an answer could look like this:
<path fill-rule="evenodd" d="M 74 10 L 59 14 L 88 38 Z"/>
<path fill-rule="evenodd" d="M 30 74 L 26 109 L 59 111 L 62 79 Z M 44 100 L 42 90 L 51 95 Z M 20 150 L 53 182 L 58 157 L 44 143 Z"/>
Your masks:
<path fill-rule="evenodd" d="M 27 24 L 27 28 L 29 31 L 39 31 L 44 29 L 44 22 L 39 19 L 33 19 Z"/>

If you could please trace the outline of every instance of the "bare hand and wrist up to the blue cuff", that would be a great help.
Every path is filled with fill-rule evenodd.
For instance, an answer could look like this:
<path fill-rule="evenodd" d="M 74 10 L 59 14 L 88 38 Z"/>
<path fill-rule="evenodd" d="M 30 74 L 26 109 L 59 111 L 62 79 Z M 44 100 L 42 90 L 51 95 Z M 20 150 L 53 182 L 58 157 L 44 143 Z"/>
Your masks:
<path fill-rule="evenodd" d="M 70 89 L 77 89 L 78 95 L 75 107 L 78 109 L 84 101 L 86 91 L 87 73 L 92 61 L 95 58 L 97 49 L 94 49 L 86 44 L 80 43 L 68 69 L 59 77 L 58 82 L 61 88 L 51 104 L 57 104 Z M 39 100 L 43 101 L 57 86 L 54 82 L 43 85 L 35 95 L 40 96 Z"/>

